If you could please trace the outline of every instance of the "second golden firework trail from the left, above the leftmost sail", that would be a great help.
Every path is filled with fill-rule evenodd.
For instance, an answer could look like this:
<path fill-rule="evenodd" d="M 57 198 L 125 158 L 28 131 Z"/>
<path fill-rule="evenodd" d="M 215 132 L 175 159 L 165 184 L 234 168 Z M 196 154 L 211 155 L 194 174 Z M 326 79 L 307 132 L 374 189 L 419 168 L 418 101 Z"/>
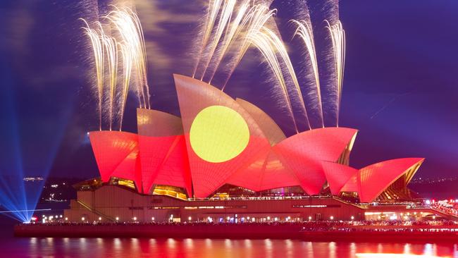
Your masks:
<path fill-rule="evenodd" d="M 101 30 L 101 42 L 106 51 L 106 61 L 109 73 L 109 125 L 110 130 L 113 126 L 113 106 L 116 97 L 116 78 L 118 76 L 118 43 L 113 37 L 107 36 Z"/>

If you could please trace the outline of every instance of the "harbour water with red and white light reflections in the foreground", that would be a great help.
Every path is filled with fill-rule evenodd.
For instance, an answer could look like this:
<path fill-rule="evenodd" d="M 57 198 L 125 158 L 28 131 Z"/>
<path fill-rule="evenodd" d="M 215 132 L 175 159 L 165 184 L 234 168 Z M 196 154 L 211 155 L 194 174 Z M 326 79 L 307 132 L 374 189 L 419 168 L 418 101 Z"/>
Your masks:
<path fill-rule="evenodd" d="M 14 240 L 14 241 L 13 241 Z M 2 257 L 387 257 L 410 254 L 456 257 L 458 245 L 301 240 L 145 239 L 145 238 L 16 238 Z"/>

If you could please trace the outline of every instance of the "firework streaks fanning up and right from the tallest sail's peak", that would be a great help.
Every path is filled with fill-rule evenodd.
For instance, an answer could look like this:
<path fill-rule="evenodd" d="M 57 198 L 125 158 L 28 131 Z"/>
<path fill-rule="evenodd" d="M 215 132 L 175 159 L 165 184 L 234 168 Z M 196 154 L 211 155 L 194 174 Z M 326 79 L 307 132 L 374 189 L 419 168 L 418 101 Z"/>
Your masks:
<path fill-rule="evenodd" d="M 202 43 L 199 45 L 199 56 L 192 73 L 193 78 L 198 76 L 200 80 L 204 80 L 208 77 L 210 83 L 223 58 L 230 49 L 235 49 L 235 58 L 229 63 L 230 71 L 223 84 L 224 89 L 230 75 L 249 48 L 247 35 L 258 32 L 276 12 L 276 10 L 269 10 L 264 4 L 251 6 L 249 2 L 249 0 L 242 1 L 240 7 L 235 8 L 236 0 L 209 1 Z M 206 76 L 207 73 L 209 76 Z"/>

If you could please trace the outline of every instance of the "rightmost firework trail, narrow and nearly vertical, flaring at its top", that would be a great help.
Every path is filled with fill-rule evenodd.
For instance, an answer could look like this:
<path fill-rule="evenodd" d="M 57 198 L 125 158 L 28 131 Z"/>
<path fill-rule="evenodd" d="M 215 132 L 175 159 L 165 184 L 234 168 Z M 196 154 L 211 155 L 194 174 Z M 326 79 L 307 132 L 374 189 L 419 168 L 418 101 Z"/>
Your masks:
<path fill-rule="evenodd" d="M 329 30 L 330 38 L 333 43 L 335 80 L 337 82 L 336 120 L 337 126 L 339 126 L 340 100 L 342 99 L 342 83 L 345 70 L 345 30 L 343 30 L 340 20 L 335 25 L 330 25 L 327 20 L 326 23 L 328 24 L 326 27 Z"/>

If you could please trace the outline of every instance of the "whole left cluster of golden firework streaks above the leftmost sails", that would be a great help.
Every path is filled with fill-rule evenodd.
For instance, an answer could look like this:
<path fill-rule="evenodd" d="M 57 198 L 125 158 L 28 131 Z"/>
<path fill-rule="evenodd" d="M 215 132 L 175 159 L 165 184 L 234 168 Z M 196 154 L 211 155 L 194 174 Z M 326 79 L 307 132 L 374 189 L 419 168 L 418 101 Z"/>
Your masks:
<path fill-rule="evenodd" d="M 112 130 L 113 122 L 115 121 L 115 113 L 120 121 L 121 130 L 123 125 L 123 114 L 125 104 L 127 102 L 130 83 L 132 82 L 132 71 L 135 68 L 137 87 L 134 87 L 139 99 L 140 108 L 149 109 L 149 86 L 147 83 L 147 52 L 144 44 L 144 36 L 142 25 L 137 14 L 130 8 L 117 8 L 114 11 L 104 16 L 111 25 L 113 25 L 118 33 L 118 38 L 106 35 L 101 23 L 95 23 L 99 30 L 94 30 L 89 27 L 83 19 L 86 27 L 83 27 L 85 35 L 89 37 L 94 51 L 94 63 L 97 74 L 97 97 L 99 100 L 99 130 L 102 124 L 102 111 L 109 111 L 109 128 Z M 123 74 L 118 75 L 118 56 L 122 56 Z M 104 67 L 107 69 L 104 70 Z M 108 86 L 104 88 L 104 75 Z M 119 76 L 119 78 L 118 78 Z M 120 86 L 117 87 L 118 81 Z M 104 101 L 104 92 L 107 92 L 108 98 Z M 120 97 L 118 97 L 120 96 Z M 115 111 L 115 106 L 119 106 L 118 111 Z"/>

